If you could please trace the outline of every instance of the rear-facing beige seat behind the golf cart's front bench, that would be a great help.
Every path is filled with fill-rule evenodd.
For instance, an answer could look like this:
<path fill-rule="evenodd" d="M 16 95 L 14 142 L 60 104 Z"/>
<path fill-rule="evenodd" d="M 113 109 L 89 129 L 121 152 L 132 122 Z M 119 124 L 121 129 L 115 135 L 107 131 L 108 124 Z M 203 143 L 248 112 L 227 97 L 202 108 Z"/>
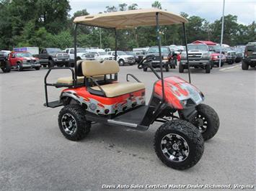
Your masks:
<path fill-rule="evenodd" d="M 77 84 L 84 83 L 84 75 L 81 72 L 81 63 L 83 61 L 84 60 L 79 60 L 79 61 L 76 62 L 77 63 Z M 95 76 L 94 78 L 97 79 L 97 80 L 103 80 L 104 75 Z M 58 78 L 57 79 L 57 84 L 72 85 L 73 84 L 73 78 L 72 78 L 72 76 Z"/>

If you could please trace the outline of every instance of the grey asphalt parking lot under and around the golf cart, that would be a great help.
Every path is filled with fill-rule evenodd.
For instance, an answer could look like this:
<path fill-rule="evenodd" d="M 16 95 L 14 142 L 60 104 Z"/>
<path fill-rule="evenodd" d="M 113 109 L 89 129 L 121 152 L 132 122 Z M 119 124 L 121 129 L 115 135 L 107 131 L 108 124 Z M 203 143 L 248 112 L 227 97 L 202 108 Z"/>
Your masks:
<path fill-rule="evenodd" d="M 69 141 L 58 129 L 58 111 L 45 108 L 46 69 L 0 73 L 0 190 L 100 190 L 102 185 L 253 185 L 255 184 L 256 70 L 239 64 L 215 67 L 211 74 L 192 69 L 192 83 L 206 95 L 221 121 L 219 132 L 205 143 L 200 162 L 178 171 L 156 157 L 156 129 L 132 131 L 94 124 L 86 139 Z M 121 67 L 119 78 L 132 73 L 146 84 L 149 101 L 156 77 L 136 65 Z M 69 75 L 60 70 L 52 75 Z M 164 76 L 187 73 L 178 69 Z M 57 99 L 60 89 L 52 88 Z"/>

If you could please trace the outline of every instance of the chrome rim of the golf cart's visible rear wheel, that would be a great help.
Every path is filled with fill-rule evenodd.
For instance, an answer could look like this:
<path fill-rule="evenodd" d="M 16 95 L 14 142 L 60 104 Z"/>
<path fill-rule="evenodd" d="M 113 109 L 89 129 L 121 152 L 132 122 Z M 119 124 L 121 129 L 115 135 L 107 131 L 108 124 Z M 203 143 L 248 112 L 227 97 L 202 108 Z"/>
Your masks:
<path fill-rule="evenodd" d="M 76 133 L 76 119 L 70 113 L 65 113 L 61 118 L 62 129 L 66 134 L 72 135 Z"/>

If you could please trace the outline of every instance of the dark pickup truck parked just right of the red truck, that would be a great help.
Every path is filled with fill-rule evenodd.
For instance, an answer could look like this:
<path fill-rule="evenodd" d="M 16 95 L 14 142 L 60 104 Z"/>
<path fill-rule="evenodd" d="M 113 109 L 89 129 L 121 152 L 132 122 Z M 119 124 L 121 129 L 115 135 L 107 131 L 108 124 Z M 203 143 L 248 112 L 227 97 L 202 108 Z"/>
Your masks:
<path fill-rule="evenodd" d="M 39 55 L 35 55 L 44 67 L 69 67 L 69 55 L 59 48 L 43 48 Z"/>

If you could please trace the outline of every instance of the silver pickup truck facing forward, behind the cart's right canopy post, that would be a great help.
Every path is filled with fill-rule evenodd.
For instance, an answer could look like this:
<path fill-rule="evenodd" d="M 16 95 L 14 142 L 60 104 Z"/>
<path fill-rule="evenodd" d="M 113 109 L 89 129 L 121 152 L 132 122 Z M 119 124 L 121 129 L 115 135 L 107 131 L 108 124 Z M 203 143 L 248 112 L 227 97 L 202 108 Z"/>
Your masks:
<path fill-rule="evenodd" d="M 188 60 L 190 67 L 202 68 L 206 73 L 211 73 L 211 52 L 206 44 L 189 44 L 187 45 Z M 187 69 L 187 54 L 183 51 L 179 65 L 179 72 L 183 73 Z"/>

